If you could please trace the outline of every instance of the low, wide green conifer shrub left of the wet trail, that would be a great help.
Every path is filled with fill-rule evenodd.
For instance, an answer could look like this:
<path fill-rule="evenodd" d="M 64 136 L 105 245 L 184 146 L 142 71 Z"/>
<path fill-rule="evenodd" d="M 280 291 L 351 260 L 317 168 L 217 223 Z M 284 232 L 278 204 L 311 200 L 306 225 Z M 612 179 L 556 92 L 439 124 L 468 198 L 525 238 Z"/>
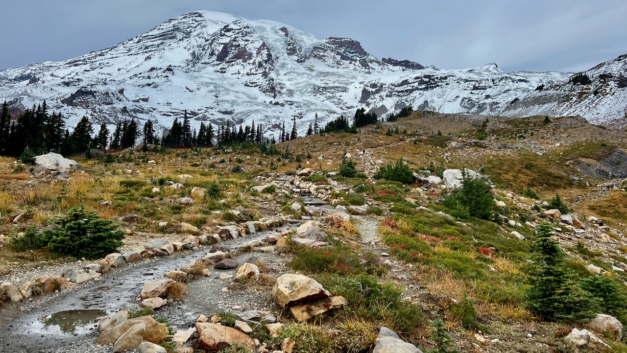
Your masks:
<path fill-rule="evenodd" d="M 61 255 L 102 258 L 115 252 L 124 239 L 124 232 L 117 230 L 119 224 L 101 219 L 95 211 L 85 211 L 83 205 L 71 208 L 66 216 L 51 223 L 60 227 L 41 233 L 41 243 Z"/>

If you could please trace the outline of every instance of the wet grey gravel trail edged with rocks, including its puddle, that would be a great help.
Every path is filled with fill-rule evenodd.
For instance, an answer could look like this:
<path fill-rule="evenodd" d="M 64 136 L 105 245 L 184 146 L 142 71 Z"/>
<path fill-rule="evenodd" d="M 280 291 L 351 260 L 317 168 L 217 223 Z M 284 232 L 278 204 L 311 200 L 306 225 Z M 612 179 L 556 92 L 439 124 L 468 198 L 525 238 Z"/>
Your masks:
<path fill-rule="evenodd" d="M 221 243 L 221 248 L 246 248 L 259 243 L 273 231 L 264 231 L 248 238 L 238 238 Z M 129 264 L 111 271 L 100 280 L 82 283 L 57 295 L 31 301 L 13 310 L 4 310 L 0 322 L 0 351 L 11 352 L 86 352 L 97 346 L 98 318 L 117 312 L 127 303 L 139 303 L 139 292 L 144 283 L 159 280 L 167 271 L 179 270 L 194 260 L 203 258 L 208 249 L 199 249 L 162 258 Z M 255 254 L 277 268 L 284 261 L 266 253 Z M 239 256 L 243 260 L 251 254 Z M 162 315 L 172 317 L 175 329 L 187 328 L 200 313 L 213 313 L 235 303 L 250 307 L 263 303 L 260 298 L 239 297 L 224 293 L 221 288 L 232 281 L 236 270 L 212 271 L 209 277 L 189 283 L 189 295 L 184 302 L 175 303 L 162 310 Z M 229 275 L 225 280 L 219 276 Z M 171 315 L 172 314 L 172 315 Z M 103 350 L 108 351 L 108 350 Z"/>

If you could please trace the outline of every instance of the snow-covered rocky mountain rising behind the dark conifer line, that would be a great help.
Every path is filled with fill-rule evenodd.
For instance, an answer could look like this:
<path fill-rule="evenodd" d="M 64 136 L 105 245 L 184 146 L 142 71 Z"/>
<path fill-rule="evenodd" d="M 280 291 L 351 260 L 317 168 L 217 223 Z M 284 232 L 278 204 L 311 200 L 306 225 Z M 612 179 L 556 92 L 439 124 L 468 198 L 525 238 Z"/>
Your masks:
<path fill-rule="evenodd" d="M 533 97 L 562 95 L 559 87 L 571 75 L 505 73 L 496 64 L 441 70 L 380 60 L 349 38 L 321 40 L 282 23 L 198 11 L 105 50 L 0 71 L 0 100 L 26 108 L 45 99 L 70 127 L 83 115 L 111 123 L 154 119 L 169 127 L 187 110 L 196 125 L 255 120 L 267 135 L 296 117 L 302 134 L 316 113 L 324 123 L 359 107 L 379 115 L 407 105 L 487 115 L 548 113 L 549 108 L 557 115 L 570 113 Z M 546 88 L 536 91 L 542 85 Z M 572 105 L 574 113 L 577 109 Z M 619 115 L 591 117 L 604 121 Z"/>

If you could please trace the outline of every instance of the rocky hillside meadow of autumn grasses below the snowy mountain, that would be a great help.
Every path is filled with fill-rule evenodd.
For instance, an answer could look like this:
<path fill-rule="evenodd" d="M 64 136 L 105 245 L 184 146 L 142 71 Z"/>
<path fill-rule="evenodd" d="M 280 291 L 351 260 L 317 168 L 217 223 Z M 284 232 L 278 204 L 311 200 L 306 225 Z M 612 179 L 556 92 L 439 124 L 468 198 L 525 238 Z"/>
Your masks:
<path fill-rule="evenodd" d="M 442 319 L 461 352 L 627 349 L 616 329 L 627 323 L 621 131 L 581 117 L 419 112 L 275 147 L 127 149 L 76 157 L 82 170 L 0 159 L 0 345 L 112 352 L 140 321 L 162 330 L 146 340 L 179 352 L 224 349 L 211 337 L 245 345 L 229 347 L 238 353 L 372 352 L 381 334 L 426 352 Z M 388 165 L 411 181 L 381 177 Z M 462 168 L 489 179 L 489 216 L 447 201 L 455 191 L 439 179 Z M 548 207 L 556 194 L 563 214 Z M 56 218 L 81 205 L 93 214 Z M 92 217 L 120 224 L 110 255 L 40 238 Z M 542 224 L 575 288 L 559 300 L 591 312 L 552 317 L 529 297 Z M 276 288 L 290 281 L 308 294 L 286 303 Z M 599 329 L 596 313 L 616 319 Z M 207 333 L 217 322 L 229 335 Z M 573 329 L 606 343 L 576 347 Z"/>

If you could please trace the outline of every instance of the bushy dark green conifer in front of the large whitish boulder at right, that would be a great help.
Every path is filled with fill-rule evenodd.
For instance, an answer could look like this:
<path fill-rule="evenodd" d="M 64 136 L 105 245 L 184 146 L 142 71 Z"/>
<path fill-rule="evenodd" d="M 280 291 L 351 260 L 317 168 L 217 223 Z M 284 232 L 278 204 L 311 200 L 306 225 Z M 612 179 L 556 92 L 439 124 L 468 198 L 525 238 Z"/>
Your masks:
<path fill-rule="evenodd" d="M 443 201 L 443 205 L 457 210 L 458 214 L 490 219 L 496 203 L 490 192 L 490 186 L 480 177 L 469 176 L 466 170 L 462 172 L 461 188 L 453 190 Z M 467 210 L 466 210 L 467 208 Z"/>

